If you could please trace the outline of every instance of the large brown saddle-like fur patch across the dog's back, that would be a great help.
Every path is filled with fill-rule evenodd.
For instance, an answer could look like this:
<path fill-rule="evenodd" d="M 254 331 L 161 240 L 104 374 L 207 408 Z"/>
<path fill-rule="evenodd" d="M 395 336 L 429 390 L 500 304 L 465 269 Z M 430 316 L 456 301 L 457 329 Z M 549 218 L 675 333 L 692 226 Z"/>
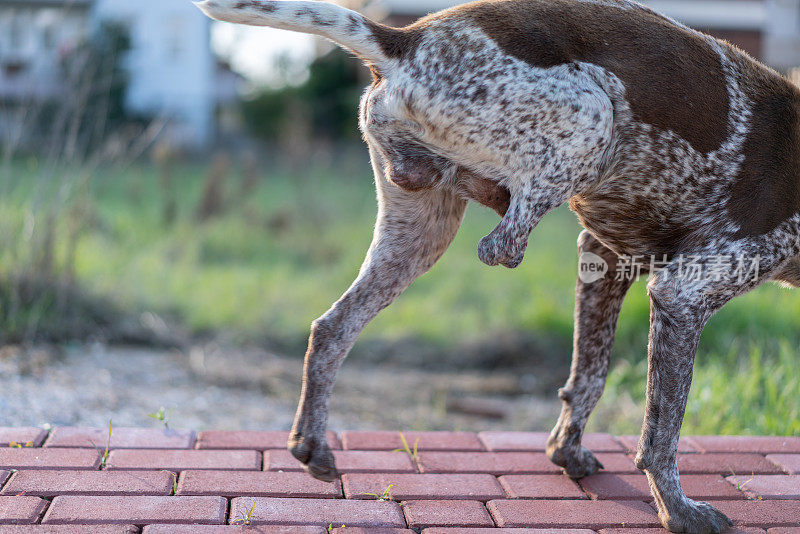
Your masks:
<path fill-rule="evenodd" d="M 639 120 L 675 132 L 701 153 L 728 135 L 719 55 L 656 13 L 570 0 L 481 1 L 456 10 L 506 53 L 536 67 L 581 61 L 614 73 Z"/>

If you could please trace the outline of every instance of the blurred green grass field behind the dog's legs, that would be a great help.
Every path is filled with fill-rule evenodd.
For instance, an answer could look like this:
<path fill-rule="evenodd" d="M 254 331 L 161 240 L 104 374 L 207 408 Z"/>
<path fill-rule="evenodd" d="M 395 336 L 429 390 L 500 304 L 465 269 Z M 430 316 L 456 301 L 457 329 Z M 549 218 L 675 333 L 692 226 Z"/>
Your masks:
<path fill-rule="evenodd" d="M 175 165 L 167 186 L 153 165 L 105 169 L 75 195 L 81 221 L 70 260 L 75 283 L 132 315 L 152 310 L 172 317 L 195 335 L 224 333 L 238 343 L 269 342 L 300 354 L 308 325 L 347 289 L 369 245 L 376 207 L 365 160 L 265 169 L 253 190 L 231 169 L 219 193 L 221 214 L 202 222 L 196 213 L 208 166 Z M 18 241 L 0 249 L 5 277 L 24 270 L 14 250 L 26 245 L 26 225 L 41 197 L 33 167 L 15 161 L 0 198 L 0 223 Z M 165 215 L 170 198 L 174 216 Z M 68 221 L 56 222 L 56 253 L 69 254 L 61 246 Z M 476 256 L 479 239 L 496 223 L 495 214 L 471 206 L 444 258 L 367 327 L 360 344 L 413 339 L 452 354 L 523 333 L 544 340 L 536 356 L 556 362 L 559 376 L 550 378 L 562 381 L 580 226 L 566 209 L 549 215 L 532 234 L 525 262 L 510 271 Z M 710 322 L 684 431 L 800 433 L 798 297 L 768 285 Z M 5 334 L 14 338 L 14 328 L 26 326 L 7 315 Z M 630 412 L 643 406 L 648 317 L 640 281 L 623 309 L 618 363 L 592 428 L 638 431 L 640 415 Z M 37 326 L 46 331 L 47 318 Z M 523 365 L 535 356 L 521 350 L 516 357 Z"/>

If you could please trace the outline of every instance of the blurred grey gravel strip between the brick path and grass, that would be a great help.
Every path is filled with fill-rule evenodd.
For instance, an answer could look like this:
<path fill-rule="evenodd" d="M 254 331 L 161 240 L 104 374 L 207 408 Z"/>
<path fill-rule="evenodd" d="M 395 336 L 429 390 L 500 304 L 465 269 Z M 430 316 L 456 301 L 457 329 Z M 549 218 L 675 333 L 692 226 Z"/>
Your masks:
<path fill-rule="evenodd" d="M 0 350 L 0 426 L 160 424 L 176 428 L 288 429 L 299 359 L 216 345 L 186 353 L 102 345 Z M 528 395 L 533 376 L 430 372 L 345 362 L 331 404 L 333 429 L 549 430 L 555 391 Z"/>

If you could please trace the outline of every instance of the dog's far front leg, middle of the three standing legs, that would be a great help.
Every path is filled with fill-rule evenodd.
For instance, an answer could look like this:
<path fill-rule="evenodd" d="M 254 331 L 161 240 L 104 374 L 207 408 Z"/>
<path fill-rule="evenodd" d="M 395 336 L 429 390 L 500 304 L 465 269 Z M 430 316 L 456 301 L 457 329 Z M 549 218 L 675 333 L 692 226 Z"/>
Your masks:
<path fill-rule="evenodd" d="M 584 230 L 578 238 L 578 253 L 599 256 L 608 265 L 600 280 L 578 279 L 575 288 L 575 332 L 572 370 L 558 392 L 561 416 L 547 442 L 547 455 L 572 478 L 597 472 L 602 465 L 581 445 L 586 420 L 603 393 L 622 301 L 632 277 L 617 280 L 617 255 Z"/>

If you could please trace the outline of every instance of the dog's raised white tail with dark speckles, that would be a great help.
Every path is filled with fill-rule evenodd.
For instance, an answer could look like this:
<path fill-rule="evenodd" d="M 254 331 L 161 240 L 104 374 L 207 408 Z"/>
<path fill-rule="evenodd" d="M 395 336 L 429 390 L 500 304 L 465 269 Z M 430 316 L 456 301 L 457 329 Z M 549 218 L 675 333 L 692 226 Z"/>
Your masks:
<path fill-rule="evenodd" d="M 328 2 L 295 0 L 204 0 L 195 2 L 206 15 L 224 22 L 269 26 L 327 37 L 372 64 L 388 59 L 381 45 L 399 30 Z"/>

